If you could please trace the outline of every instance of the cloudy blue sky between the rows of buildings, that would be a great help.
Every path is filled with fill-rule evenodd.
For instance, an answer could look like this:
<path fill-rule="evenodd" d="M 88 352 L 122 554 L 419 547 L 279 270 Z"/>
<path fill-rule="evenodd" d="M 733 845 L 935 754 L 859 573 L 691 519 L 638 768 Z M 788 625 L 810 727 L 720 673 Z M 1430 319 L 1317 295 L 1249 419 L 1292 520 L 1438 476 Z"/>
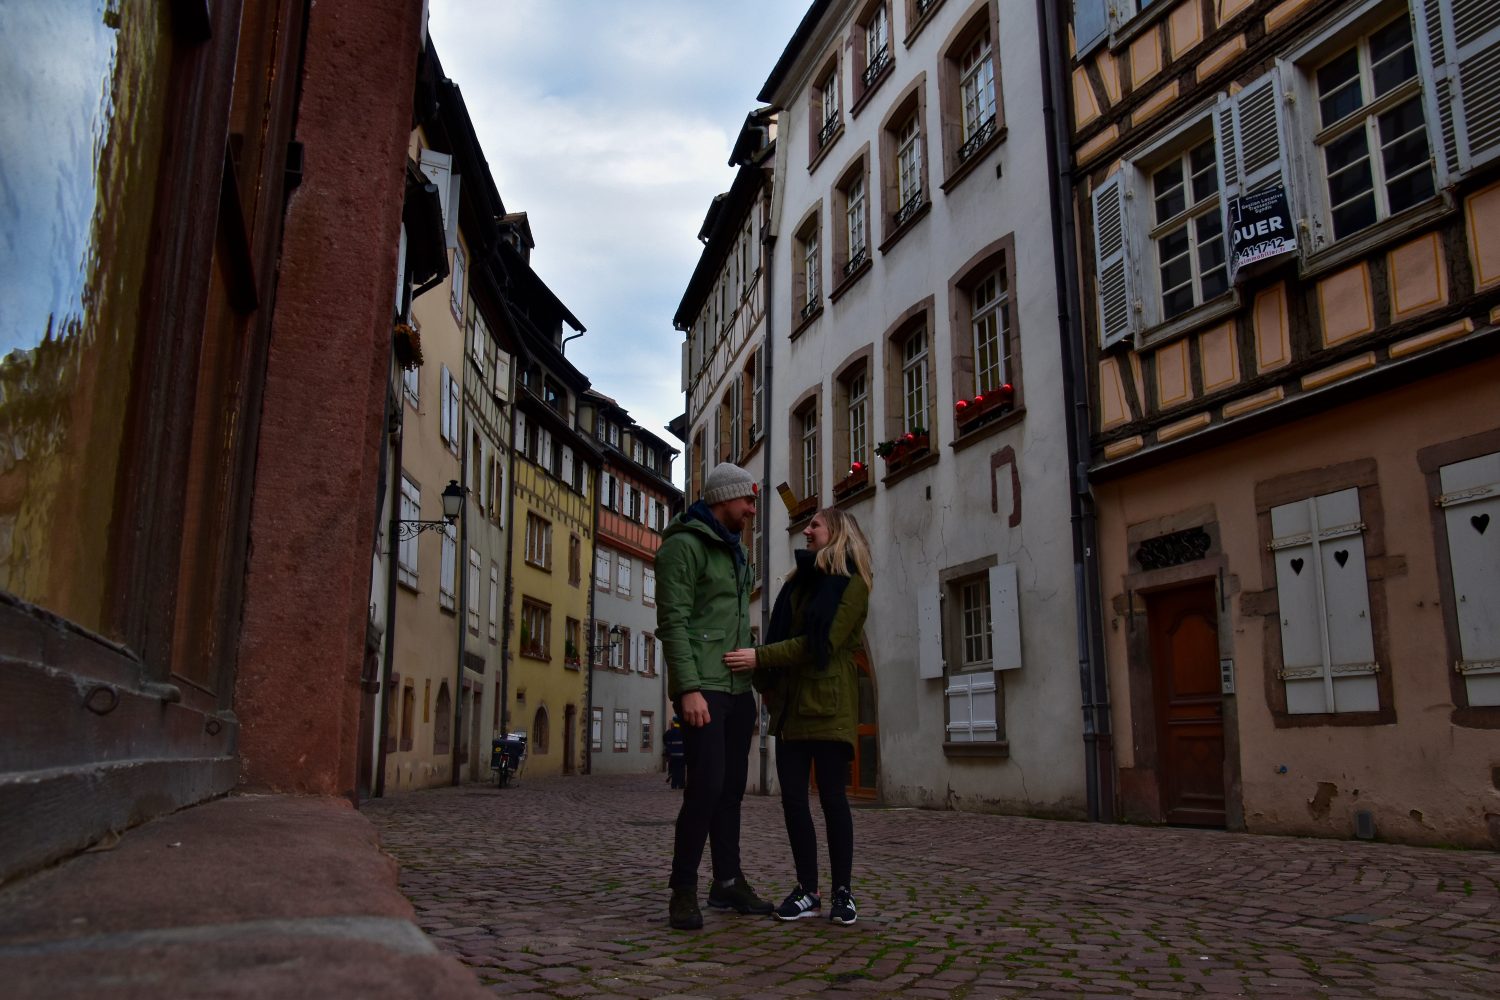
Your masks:
<path fill-rule="evenodd" d="M 459 85 L 531 267 L 588 333 L 567 357 L 676 448 L 672 316 L 729 150 L 808 0 L 432 0 Z M 681 462 L 678 463 L 681 466 Z M 681 468 L 675 469 L 681 480 Z"/>

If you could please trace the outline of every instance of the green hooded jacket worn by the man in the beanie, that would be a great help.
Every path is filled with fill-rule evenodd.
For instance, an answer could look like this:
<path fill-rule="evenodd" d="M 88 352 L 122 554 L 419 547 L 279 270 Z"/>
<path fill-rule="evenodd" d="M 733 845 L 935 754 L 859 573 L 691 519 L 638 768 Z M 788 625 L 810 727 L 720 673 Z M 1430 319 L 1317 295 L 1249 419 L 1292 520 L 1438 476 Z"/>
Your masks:
<path fill-rule="evenodd" d="M 668 696 L 748 691 L 750 675 L 724 666 L 726 652 L 750 645 L 752 580 L 740 543 L 730 546 L 688 508 L 662 532 L 656 574 Z"/>

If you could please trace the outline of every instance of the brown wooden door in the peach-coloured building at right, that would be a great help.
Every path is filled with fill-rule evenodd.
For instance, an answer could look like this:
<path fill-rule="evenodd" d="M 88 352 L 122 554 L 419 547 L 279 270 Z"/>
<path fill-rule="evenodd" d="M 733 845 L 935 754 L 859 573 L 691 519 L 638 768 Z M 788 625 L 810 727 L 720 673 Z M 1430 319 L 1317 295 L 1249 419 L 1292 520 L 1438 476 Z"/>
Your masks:
<path fill-rule="evenodd" d="M 1224 696 L 1212 583 L 1148 597 L 1162 819 L 1224 826 Z"/>

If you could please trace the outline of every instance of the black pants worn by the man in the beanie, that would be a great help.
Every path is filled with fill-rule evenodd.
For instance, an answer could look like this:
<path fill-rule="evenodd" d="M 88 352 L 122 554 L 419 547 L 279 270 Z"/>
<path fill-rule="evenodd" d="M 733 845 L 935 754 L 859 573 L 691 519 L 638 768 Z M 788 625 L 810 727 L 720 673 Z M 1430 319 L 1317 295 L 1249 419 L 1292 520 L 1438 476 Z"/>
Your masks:
<path fill-rule="evenodd" d="M 750 772 L 750 738 L 756 729 L 754 696 L 704 691 L 706 726 L 682 726 L 687 789 L 676 814 L 672 888 L 698 889 L 704 843 L 710 844 L 714 879 L 740 874 L 740 802 Z M 676 714 L 687 718 L 681 703 Z"/>

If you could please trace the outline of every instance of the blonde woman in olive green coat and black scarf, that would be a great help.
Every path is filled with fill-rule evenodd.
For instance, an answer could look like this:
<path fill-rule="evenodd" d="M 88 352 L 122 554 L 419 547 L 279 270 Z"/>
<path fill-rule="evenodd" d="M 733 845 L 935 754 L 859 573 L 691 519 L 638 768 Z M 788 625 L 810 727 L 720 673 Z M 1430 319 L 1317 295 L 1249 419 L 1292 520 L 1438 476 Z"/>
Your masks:
<path fill-rule="evenodd" d="M 856 918 L 849 876 L 854 817 L 844 784 L 860 724 L 860 670 L 855 654 L 870 603 L 870 544 L 860 523 L 838 508 L 818 511 L 802 531 L 807 547 L 777 594 L 768 645 L 724 655 L 732 670 L 754 670 L 756 690 L 771 709 L 782 813 L 796 865 L 796 888 L 776 910 L 782 921 L 818 916 L 818 832 L 807 802 L 816 768 L 818 799 L 828 829 L 834 895 L 830 919 Z"/>

